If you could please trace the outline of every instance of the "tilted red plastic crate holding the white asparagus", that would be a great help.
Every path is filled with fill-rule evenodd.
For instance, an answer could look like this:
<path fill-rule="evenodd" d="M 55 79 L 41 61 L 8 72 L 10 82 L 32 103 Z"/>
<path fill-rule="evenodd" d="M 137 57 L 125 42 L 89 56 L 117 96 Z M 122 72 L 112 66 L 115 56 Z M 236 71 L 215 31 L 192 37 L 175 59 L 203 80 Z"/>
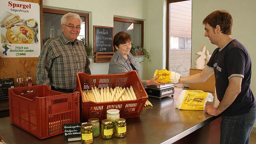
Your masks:
<path fill-rule="evenodd" d="M 86 73 L 77 73 L 76 90 L 80 92 L 81 102 L 81 122 L 87 122 L 89 118 L 98 118 L 99 121 L 106 119 L 107 110 L 119 109 L 120 118 L 139 117 L 144 107 L 148 95 L 143 88 L 140 78 L 136 71 L 129 71 L 125 74 L 111 75 L 88 75 Z M 92 87 L 105 88 L 112 87 L 133 87 L 136 100 L 113 101 L 113 102 L 92 102 L 85 101 L 81 96 L 82 90 L 91 89 Z M 142 89 L 140 89 L 140 87 Z"/>

